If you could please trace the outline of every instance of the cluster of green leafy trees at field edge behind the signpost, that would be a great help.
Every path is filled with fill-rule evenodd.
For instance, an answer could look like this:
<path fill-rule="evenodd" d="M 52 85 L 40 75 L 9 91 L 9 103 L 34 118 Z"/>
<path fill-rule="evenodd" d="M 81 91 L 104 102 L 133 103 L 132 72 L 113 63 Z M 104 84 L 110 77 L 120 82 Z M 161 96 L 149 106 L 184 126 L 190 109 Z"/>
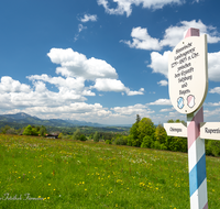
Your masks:
<path fill-rule="evenodd" d="M 172 122 L 182 122 L 180 120 L 168 120 Z M 175 152 L 187 152 L 187 139 L 178 136 L 168 136 L 162 124 L 154 125 L 150 118 L 143 118 L 136 114 L 136 121 L 132 124 L 129 135 L 117 135 L 111 142 L 117 145 L 129 145 L 146 148 L 167 150 Z M 206 154 L 220 156 L 220 141 L 206 140 Z"/>

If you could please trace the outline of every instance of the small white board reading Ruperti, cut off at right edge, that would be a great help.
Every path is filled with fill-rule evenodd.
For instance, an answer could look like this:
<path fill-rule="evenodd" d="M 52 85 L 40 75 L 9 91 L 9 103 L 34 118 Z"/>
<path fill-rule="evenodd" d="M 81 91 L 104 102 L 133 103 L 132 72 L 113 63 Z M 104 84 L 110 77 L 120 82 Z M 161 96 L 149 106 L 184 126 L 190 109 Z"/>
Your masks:
<path fill-rule="evenodd" d="M 200 138 L 207 140 L 220 140 L 220 122 L 200 123 Z"/>

